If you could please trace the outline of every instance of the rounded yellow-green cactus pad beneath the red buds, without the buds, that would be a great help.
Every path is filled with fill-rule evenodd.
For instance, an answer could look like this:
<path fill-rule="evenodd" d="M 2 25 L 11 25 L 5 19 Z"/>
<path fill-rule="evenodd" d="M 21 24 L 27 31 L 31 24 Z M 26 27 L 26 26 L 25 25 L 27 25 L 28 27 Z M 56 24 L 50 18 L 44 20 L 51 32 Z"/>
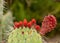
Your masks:
<path fill-rule="evenodd" d="M 8 43 L 42 43 L 42 38 L 35 29 L 24 27 L 13 30 L 8 37 Z"/>

